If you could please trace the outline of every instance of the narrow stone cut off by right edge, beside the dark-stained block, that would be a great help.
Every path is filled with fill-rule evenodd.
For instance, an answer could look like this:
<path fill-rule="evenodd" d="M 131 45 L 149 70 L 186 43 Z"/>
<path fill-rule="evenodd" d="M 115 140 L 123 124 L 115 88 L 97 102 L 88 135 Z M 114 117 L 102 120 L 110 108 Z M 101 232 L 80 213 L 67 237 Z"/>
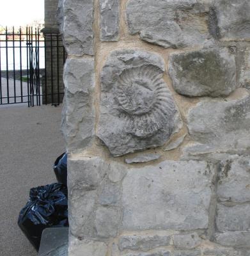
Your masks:
<path fill-rule="evenodd" d="M 236 55 L 237 83 L 242 87 L 250 87 L 250 47 L 238 47 Z"/>

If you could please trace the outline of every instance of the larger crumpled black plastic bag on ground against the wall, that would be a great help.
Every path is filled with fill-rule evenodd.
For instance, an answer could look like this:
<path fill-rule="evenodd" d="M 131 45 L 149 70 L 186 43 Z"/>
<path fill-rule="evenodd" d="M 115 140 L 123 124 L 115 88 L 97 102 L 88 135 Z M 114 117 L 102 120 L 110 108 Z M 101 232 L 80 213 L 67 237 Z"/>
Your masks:
<path fill-rule="evenodd" d="M 18 225 L 37 251 L 45 228 L 68 227 L 66 186 L 54 183 L 31 188 L 29 201 L 20 211 Z"/>

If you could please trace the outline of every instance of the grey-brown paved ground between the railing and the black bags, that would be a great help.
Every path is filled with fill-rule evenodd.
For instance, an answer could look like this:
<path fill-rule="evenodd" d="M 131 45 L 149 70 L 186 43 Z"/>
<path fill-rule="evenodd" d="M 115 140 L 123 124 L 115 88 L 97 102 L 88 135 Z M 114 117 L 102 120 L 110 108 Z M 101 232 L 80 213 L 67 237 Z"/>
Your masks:
<path fill-rule="evenodd" d="M 56 182 L 52 165 L 64 151 L 61 107 L 0 107 L 0 255 L 35 256 L 17 226 L 29 189 Z"/>

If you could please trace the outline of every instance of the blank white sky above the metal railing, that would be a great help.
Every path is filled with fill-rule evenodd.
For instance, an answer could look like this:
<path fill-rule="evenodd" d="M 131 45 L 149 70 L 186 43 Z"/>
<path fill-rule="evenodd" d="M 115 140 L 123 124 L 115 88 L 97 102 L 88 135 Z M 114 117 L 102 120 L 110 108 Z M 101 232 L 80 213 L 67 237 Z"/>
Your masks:
<path fill-rule="evenodd" d="M 44 0 L 0 0 L 0 25 L 24 26 L 44 19 Z"/>

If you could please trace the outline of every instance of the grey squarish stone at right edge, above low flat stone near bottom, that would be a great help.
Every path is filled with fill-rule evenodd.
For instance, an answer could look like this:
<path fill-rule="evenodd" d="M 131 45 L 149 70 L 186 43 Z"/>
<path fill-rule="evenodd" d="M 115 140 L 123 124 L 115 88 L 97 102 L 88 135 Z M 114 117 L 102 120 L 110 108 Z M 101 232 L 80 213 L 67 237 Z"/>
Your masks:
<path fill-rule="evenodd" d="M 217 205 L 216 225 L 219 231 L 246 231 L 250 228 L 250 204 L 227 207 Z"/>

